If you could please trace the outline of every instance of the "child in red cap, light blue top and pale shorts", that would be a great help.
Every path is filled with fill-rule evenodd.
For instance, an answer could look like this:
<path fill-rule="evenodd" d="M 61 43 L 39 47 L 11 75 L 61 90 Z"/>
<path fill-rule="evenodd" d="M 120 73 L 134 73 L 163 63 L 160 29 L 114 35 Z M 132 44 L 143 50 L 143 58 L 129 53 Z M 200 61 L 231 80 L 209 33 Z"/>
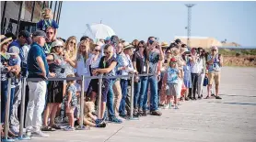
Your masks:
<path fill-rule="evenodd" d="M 180 70 L 178 69 L 177 60 L 171 58 L 169 61 L 169 68 L 167 69 L 163 78 L 163 88 L 167 88 L 167 104 L 171 108 L 171 99 L 174 96 L 174 108 L 178 109 L 178 82 L 180 77 Z M 164 91 L 164 90 L 162 90 Z"/>

